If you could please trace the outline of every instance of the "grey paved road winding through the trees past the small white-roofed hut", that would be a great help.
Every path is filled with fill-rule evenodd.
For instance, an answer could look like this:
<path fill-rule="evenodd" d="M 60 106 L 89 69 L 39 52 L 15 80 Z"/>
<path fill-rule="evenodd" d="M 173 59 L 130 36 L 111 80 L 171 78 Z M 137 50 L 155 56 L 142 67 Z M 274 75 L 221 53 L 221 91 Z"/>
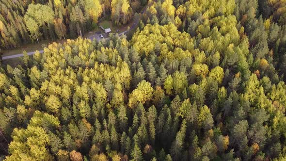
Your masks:
<path fill-rule="evenodd" d="M 144 14 L 144 12 L 146 11 L 146 8 L 147 8 L 147 7 L 145 7 L 145 8 L 143 9 L 143 11 L 141 12 L 141 14 Z M 140 19 L 140 18 L 137 18 L 137 19 L 134 20 L 134 23 L 132 24 L 132 26 L 130 27 L 129 30 L 124 31 L 124 32 L 121 32 L 121 33 L 119 33 L 118 35 L 121 36 L 122 34 L 126 34 L 126 33 L 129 32 L 130 30 L 132 30 L 132 29 L 133 29 L 135 26 L 137 26 L 137 24 L 139 23 L 139 19 Z M 91 39 L 92 41 L 93 41 L 94 39 L 96 39 L 97 41 L 100 41 L 100 40 L 101 40 L 101 38 L 100 38 L 100 36 L 99 36 L 99 33 L 95 33 L 95 34 L 89 36 L 89 39 Z M 109 39 L 109 37 L 108 37 L 107 39 Z M 44 50 L 39 50 L 39 52 L 40 52 L 40 53 L 43 53 Z M 27 55 L 33 55 L 33 54 L 35 54 L 35 51 L 27 52 Z M 21 53 L 21 54 L 16 54 L 16 55 L 2 56 L 2 60 L 17 58 L 17 57 L 23 57 L 23 56 L 24 56 L 23 53 Z"/>

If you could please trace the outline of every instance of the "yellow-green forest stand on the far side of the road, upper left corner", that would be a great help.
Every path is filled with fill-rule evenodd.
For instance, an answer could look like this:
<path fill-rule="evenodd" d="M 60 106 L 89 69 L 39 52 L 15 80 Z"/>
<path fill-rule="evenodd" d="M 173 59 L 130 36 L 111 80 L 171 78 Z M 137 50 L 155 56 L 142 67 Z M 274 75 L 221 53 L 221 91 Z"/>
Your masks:
<path fill-rule="evenodd" d="M 128 23 L 146 0 L 1 0 L 0 48 L 84 36 L 98 19 Z"/>

